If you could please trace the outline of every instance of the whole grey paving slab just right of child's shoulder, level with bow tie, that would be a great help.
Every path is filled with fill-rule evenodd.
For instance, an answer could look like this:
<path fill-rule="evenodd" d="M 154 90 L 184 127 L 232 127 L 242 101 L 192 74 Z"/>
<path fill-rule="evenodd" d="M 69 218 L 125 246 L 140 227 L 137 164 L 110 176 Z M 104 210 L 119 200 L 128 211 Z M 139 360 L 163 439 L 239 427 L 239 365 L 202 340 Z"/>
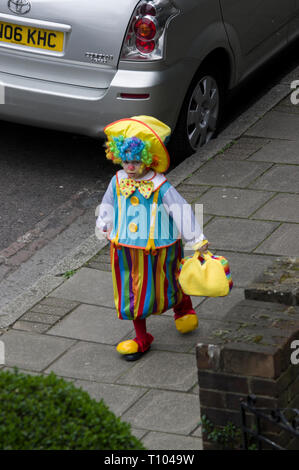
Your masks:
<path fill-rule="evenodd" d="M 249 217 L 275 193 L 235 188 L 212 188 L 196 202 L 203 204 L 205 214 Z"/>

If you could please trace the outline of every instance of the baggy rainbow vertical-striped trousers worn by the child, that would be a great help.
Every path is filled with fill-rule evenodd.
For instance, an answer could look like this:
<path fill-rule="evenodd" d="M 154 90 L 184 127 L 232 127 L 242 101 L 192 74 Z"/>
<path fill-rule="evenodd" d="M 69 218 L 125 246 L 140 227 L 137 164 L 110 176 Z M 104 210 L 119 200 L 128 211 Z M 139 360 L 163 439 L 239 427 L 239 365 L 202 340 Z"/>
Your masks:
<path fill-rule="evenodd" d="M 182 242 L 145 250 L 110 245 L 114 301 L 118 318 L 136 320 L 161 314 L 182 301 L 177 275 L 183 253 Z"/>

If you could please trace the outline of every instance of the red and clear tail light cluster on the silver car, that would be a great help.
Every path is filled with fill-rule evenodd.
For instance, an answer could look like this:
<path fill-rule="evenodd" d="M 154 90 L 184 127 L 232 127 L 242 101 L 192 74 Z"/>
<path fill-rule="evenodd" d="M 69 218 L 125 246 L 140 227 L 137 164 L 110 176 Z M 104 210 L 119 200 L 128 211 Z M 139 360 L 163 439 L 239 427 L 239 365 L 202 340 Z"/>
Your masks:
<path fill-rule="evenodd" d="M 168 23 L 178 13 L 171 0 L 141 0 L 128 26 L 121 59 L 161 59 Z"/>

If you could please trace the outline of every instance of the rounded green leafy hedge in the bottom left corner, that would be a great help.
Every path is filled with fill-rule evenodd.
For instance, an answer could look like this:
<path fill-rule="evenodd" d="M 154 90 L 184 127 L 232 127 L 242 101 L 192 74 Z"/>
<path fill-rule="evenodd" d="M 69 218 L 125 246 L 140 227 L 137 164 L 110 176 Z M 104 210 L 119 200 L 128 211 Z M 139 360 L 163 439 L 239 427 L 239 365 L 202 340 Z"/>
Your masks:
<path fill-rule="evenodd" d="M 142 450 L 101 400 L 51 373 L 0 371 L 1 450 Z"/>

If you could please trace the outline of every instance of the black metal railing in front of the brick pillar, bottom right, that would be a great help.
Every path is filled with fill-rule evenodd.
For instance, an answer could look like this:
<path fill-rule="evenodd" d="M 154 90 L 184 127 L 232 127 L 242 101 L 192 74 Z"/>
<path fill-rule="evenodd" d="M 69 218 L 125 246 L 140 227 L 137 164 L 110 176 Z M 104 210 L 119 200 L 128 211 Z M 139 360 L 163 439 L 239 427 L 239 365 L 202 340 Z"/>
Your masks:
<path fill-rule="evenodd" d="M 246 401 L 241 401 L 241 429 L 243 433 L 243 449 L 249 450 L 254 443 L 257 450 L 263 450 L 263 444 L 267 444 L 268 448 L 274 450 L 286 450 L 280 444 L 274 442 L 270 437 L 266 436 L 262 429 L 263 421 L 272 423 L 279 431 L 286 431 L 292 437 L 298 438 L 299 450 L 299 409 L 297 408 L 283 408 L 271 410 L 269 408 L 258 408 L 257 397 L 255 395 L 248 395 Z M 254 424 L 249 427 L 247 422 L 247 413 L 254 415 Z M 286 415 L 292 415 L 288 418 Z"/>

